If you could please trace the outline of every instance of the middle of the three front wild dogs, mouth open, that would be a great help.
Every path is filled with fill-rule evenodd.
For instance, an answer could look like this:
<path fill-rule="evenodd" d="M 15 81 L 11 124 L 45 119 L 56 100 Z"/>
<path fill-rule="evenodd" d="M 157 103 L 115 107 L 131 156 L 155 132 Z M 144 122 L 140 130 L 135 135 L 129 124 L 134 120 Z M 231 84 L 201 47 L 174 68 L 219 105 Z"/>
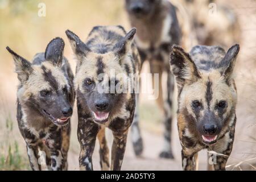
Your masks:
<path fill-rule="evenodd" d="M 100 142 L 101 169 L 109 169 L 105 127 L 114 135 L 111 169 L 121 169 L 128 129 L 134 118 L 135 93 L 130 88 L 132 85 L 127 86 L 131 92 L 116 89 L 125 89 L 126 80 L 133 79 L 129 73 L 139 73 L 140 59 L 133 44 L 135 32 L 135 28 L 126 34 L 121 26 L 97 26 L 83 43 L 73 32 L 66 31 L 77 59 L 74 84 L 79 115 L 80 169 L 93 170 L 96 137 Z M 123 77 L 119 78 L 120 74 Z M 138 80 L 137 76 L 135 78 Z M 101 92 L 99 88 L 104 86 L 106 92 Z"/>

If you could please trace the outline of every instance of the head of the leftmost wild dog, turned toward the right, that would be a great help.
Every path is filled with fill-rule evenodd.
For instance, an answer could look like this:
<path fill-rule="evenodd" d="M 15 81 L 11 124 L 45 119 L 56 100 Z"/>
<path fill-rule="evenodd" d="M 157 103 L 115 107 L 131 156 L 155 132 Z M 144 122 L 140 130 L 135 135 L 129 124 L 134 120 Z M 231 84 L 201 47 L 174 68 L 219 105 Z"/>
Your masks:
<path fill-rule="evenodd" d="M 63 71 L 63 49 L 63 39 L 55 38 L 45 53 L 36 55 L 40 61 L 31 64 L 7 47 L 20 81 L 18 101 L 24 110 L 30 112 L 27 117 L 31 119 L 44 118 L 41 120 L 66 125 L 72 115 L 73 89 Z"/>

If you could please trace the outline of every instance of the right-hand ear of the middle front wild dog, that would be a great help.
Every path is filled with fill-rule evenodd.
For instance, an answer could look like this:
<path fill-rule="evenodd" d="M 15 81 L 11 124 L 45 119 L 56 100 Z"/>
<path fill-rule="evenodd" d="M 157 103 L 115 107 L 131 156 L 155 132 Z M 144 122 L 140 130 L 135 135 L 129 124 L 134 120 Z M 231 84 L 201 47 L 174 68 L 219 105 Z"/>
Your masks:
<path fill-rule="evenodd" d="M 136 28 L 132 28 L 121 41 L 115 44 L 113 51 L 118 57 L 122 57 L 129 52 L 135 33 Z"/>

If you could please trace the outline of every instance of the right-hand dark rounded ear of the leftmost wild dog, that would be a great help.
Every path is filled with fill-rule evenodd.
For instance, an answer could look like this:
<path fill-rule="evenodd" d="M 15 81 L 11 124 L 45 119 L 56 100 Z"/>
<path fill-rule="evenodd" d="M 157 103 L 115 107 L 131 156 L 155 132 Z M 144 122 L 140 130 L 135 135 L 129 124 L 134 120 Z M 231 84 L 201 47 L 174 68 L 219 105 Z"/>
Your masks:
<path fill-rule="evenodd" d="M 64 46 L 65 43 L 63 39 L 52 39 L 46 47 L 46 52 L 44 53 L 45 59 L 51 61 L 53 65 L 60 67 L 63 60 Z"/>

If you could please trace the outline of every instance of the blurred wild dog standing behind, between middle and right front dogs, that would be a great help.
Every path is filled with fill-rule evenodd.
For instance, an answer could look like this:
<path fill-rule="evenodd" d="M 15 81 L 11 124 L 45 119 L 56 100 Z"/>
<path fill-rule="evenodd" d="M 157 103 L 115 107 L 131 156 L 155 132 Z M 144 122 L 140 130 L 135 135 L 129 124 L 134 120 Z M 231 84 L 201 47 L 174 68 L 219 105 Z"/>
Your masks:
<path fill-rule="evenodd" d="M 126 0 L 126 11 L 131 26 L 137 28 L 135 43 L 137 44 L 142 63 L 148 60 L 151 73 L 159 73 L 159 97 L 156 102 L 164 113 L 164 148 L 161 158 L 174 158 L 171 148 L 172 96 L 174 92 L 174 76 L 169 69 L 169 54 L 173 44 L 179 44 L 180 27 L 175 7 L 167 0 Z M 162 89 L 162 75 L 167 72 L 167 90 Z M 152 75 L 154 81 L 154 75 Z M 152 84 L 154 85 L 154 83 Z M 168 93 L 163 96 L 163 93 Z M 141 155 L 143 144 L 135 115 L 131 127 L 133 146 L 136 155 Z"/>

